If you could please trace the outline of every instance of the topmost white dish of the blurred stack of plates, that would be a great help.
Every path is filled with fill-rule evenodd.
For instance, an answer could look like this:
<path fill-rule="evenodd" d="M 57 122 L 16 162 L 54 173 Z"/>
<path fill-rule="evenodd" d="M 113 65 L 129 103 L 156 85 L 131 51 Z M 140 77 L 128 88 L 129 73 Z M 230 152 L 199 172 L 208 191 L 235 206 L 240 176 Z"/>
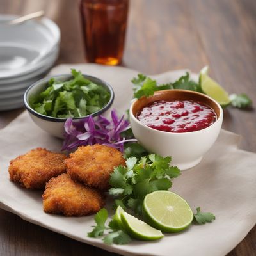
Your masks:
<path fill-rule="evenodd" d="M 0 79 L 29 74 L 44 66 L 45 57 L 60 42 L 60 29 L 47 18 L 28 20 L 17 26 L 4 21 L 14 15 L 0 15 Z"/>

